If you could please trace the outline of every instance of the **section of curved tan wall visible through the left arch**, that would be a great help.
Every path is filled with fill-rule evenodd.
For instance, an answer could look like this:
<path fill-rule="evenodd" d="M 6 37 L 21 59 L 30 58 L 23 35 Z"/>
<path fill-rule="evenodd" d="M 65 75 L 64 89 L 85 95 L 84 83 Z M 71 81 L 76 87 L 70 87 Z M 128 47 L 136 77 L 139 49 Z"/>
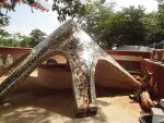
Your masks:
<path fill-rule="evenodd" d="M 72 88 L 71 71 L 66 67 L 37 67 L 37 83 L 44 87 L 63 89 Z"/>

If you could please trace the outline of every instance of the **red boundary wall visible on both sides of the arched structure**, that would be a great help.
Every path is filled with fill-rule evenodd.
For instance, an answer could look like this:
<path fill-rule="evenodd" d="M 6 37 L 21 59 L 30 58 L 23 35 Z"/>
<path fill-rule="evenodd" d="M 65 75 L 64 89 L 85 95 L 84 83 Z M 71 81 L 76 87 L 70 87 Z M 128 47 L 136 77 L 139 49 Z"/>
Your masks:
<path fill-rule="evenodd" d="M 31 48 L 0 47 L 0 76 L 14 70 L 31 52 Z M 156 50 L 154 54 L 142 51 L 106 50 L 120 65 L 129 72 L 141 71 L 141 60 L 157 54 L 157 59 L 164 59 L 164 50 Z"/>

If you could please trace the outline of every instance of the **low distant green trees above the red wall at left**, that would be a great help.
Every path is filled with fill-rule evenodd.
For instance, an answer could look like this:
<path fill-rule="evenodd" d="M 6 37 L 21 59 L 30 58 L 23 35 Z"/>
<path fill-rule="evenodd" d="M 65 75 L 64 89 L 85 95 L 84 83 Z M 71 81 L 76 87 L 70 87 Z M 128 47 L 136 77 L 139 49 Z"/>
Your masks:
<path fill-rule="evenodd" d="M 0 29 L 0 46 L 7 47 L 30 47 L 33 48 L 45 39 L 46 34 L 39 29 L 33 29 L 28 36 L 10 34 Z"/>

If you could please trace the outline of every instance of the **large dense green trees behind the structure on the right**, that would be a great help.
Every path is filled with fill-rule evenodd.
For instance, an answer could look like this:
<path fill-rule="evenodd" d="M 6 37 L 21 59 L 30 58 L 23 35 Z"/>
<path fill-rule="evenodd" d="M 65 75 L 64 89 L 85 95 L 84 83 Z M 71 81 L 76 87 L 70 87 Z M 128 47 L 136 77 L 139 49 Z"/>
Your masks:
<path fill-rule="evenodd" d="M 149 45 L 164 39 L 164 5 L 157 12 L 147 13 L 143 7 L 122 8 L 114 11 L 113 3 L 94 2 L 87 5 L 79 23 L 102 47 L 113 45 Z"/>

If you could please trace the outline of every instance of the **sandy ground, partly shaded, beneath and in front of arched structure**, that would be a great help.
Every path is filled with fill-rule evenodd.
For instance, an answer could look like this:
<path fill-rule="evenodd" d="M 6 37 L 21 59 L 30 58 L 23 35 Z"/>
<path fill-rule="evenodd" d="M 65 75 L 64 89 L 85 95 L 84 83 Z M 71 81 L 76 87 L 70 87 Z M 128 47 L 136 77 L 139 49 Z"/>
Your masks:
<path fill-rule="evenodd" d="M 36 78 L 33 72 L 5 99 L 11 104 L 0 106 L 0 123 L 139 123 L 143 113 L 128 91 L 96 87 L 98 114 L 75 119 L 73 91 L 44 88 Z"/>

